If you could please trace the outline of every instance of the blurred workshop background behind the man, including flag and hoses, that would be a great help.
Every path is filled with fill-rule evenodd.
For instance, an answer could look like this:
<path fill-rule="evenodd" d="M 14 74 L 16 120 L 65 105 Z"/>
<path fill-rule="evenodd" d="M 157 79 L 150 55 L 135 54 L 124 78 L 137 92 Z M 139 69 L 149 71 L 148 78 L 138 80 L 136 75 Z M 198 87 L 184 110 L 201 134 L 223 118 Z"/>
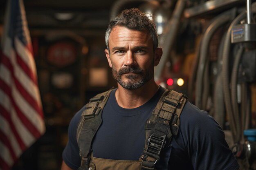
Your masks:
<path fill-rule="evenodd" d="M 91 97 L 116 86 L 104 53 L 105 31 L 111 18 L 132 7 L 150 13 L 157 26 L 164 53 L 156 82 L 207 110 L 242 168 L 256 170 L 256 141 L 248 138 L 256 133 L 255 0 L 0 0 L 0 169 L 60 169 L 73 115 Z M 16 15 L 23 31 L 17 35 L 10 27 Z M 35 100 L 26 97 L 31 88 L 22 87 L 26 77 L 17 77 L 15 87 L 8 84 L 15 74 L 8 65 L 8 43 L 18 43 L 15 35 L 29 49 L 23 50 L 28 64 L 18 64 L 31 75 Z M 9 99 L 11 91 L 36 103 L 37 119 L 25 118 L 26 105 L 17 96 Z M 16 119 L 8 115 L 13 110 L 7 98 L 20 104 L 13 106 Z M 19 135 L 22 128 L 31 140 Z"/>

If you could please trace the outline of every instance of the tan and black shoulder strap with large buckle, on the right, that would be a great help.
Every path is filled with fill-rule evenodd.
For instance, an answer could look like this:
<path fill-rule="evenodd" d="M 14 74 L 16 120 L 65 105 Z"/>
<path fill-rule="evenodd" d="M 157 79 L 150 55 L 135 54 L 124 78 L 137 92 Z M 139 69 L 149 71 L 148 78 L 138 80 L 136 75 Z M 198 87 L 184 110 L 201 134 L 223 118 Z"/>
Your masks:
<path fill-rule="evenodd" d="M 180 114 L 186 103 L 182 93 L 166 90 L 159 99 L 150 118 L 146 122 L 146 141 L 141 155 L 141 170 L 154 170 L 160 159 L 160 152 L 168 146 L 172 136 L 177 135 L 180 127 Z"/>

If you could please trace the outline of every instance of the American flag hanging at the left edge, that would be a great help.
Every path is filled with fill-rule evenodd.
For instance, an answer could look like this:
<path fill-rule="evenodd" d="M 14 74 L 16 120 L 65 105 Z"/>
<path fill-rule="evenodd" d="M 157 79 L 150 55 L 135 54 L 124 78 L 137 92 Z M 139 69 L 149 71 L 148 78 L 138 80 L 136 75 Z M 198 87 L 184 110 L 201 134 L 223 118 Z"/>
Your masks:
<path fill-rule="evenodd" d="M 23 0 L 9 0 L 0 49 L 0 170 L 45 132 Z"/>

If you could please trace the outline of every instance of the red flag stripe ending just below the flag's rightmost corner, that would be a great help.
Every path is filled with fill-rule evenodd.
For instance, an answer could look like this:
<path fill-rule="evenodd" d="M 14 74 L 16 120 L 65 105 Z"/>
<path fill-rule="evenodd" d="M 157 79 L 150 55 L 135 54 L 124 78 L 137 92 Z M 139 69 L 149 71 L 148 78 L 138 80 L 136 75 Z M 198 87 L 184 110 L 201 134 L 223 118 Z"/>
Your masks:
<path fill-rule="evenodd" d="M 20 120 L 24 124 L 24 126 L 27 128 L 27 130 L 37 139 L 38 137 L 41 136 L 40 132 L 37 130 L 37 128 L 31 123 L 29 119 L 20 111 L 20 108 L 16 105 L 16 102 L 14 101 L 12 94 L 11 94 L 11 89 L 5 82 L 0 79 L 0 88 L 3 89 L 3 91 L 9 96 L 11 103 L 13 105 L 13 108 L 15 109 L 18 117 L 20 117 Z"/>

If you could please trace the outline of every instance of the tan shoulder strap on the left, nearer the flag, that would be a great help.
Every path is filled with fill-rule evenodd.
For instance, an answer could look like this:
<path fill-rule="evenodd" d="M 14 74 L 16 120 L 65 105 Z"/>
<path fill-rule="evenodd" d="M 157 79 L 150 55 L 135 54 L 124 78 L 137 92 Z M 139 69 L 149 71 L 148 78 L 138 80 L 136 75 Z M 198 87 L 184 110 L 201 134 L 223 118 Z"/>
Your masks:
<path fill-rule="evenodd" d="M 79 170 L 88 169 L 92 139 L 101 125 L 102 109 L 107 103 L 108 97 L 112 90 L 113 88 L 92 97 L 89 103 L 85 105 L 81 114 L 81 120 L 76 133 L 76 140 L 79 146 L 79 155 L 82 158 L 81 167 Z"/>

